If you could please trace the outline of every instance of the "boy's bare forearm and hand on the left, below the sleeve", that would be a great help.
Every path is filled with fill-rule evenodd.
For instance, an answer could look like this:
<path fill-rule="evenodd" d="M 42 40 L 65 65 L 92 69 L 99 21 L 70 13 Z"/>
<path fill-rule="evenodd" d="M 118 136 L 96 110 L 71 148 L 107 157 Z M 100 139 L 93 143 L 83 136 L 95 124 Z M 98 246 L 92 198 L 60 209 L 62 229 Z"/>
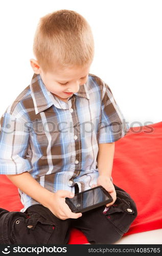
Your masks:
<path fill-rule="evenodd" d="M 71 191 L 58 190 L 56 193 L 53 193 L 42 187 L 29 172 L 6 176 L 28 196 L 49 208 L 57 218 L 66 220 L 69 218 L 77 219 L 82 216 L 81 213 L 75 214 L 72 212 L 65 203 L 65 197 L 74 197 Z"/>

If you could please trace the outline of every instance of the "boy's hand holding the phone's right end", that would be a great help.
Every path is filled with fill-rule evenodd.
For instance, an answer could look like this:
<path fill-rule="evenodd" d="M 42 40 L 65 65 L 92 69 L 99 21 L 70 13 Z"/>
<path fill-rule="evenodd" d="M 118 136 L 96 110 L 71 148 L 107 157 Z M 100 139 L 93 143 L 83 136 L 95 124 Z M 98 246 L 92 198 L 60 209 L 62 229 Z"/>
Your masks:
<path fill-rule="evenodd" d="M 96 187 L 96 186 L 103 186 L 113 199 L 111 203 L 106 204 L 106 207 L 112 205 L 116 201 L 117 194 L 110 178 L 108 178 L 107 176 L 99 176 L 97 179 L 97 185 L 93 184 L 91 187 Z"/>

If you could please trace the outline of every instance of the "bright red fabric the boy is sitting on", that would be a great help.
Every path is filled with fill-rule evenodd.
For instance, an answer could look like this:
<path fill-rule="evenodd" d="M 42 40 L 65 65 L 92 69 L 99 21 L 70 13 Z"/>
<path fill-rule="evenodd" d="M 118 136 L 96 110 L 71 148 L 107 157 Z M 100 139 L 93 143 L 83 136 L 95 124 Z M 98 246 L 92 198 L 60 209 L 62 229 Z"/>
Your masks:
<path fill-rule="evenodd" d="M 113 182 L 131 195 L 138 210 L 125 235 L 162 228 L 162 122 L 149 127 L 131 128 L 115 142 Z M 9 211 L 22 208 L 16 186 L 5 175 L 0 176 L 0 207 Z M 88 243 L 84 234 L 73 229 L 69 244 L 84 243 Z"/>

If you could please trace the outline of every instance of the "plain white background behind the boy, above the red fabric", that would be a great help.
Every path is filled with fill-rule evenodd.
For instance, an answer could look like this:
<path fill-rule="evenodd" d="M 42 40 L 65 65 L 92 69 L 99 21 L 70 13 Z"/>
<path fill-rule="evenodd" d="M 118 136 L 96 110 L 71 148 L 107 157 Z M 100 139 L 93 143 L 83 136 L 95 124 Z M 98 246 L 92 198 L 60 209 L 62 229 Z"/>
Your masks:
<path fill-rule="evenodd" d="M 0 115 L 31 82 L 29 59 L 35 58 L 32 46 L 39 18 L 59 9 L 77 11 L 90 24 L 95 39 L 90 73 L 109 85 L 129 125 L 160 122 L 160 0 L 1 2 Z"/>

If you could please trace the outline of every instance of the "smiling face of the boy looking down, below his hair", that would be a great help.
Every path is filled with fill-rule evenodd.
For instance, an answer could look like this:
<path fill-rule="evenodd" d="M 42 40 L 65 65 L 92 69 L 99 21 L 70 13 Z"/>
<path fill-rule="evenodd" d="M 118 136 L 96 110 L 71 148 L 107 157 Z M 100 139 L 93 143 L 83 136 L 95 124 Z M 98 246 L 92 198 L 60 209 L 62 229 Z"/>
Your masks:
<path fill-rule="evenodd" d="M 67 102 L 67 98 L 79 91 L 88 79 L 90 65 L 84 67 L 73 67 L 66 69 L 55 69 L 53 73 L 43 73 L 39 69 L 39 74 L 45 87 L 61 100 Z M 35 72 L 36 73 L 36 72 Z M 71 93 L 71 94 L 66 94 Z"/>

